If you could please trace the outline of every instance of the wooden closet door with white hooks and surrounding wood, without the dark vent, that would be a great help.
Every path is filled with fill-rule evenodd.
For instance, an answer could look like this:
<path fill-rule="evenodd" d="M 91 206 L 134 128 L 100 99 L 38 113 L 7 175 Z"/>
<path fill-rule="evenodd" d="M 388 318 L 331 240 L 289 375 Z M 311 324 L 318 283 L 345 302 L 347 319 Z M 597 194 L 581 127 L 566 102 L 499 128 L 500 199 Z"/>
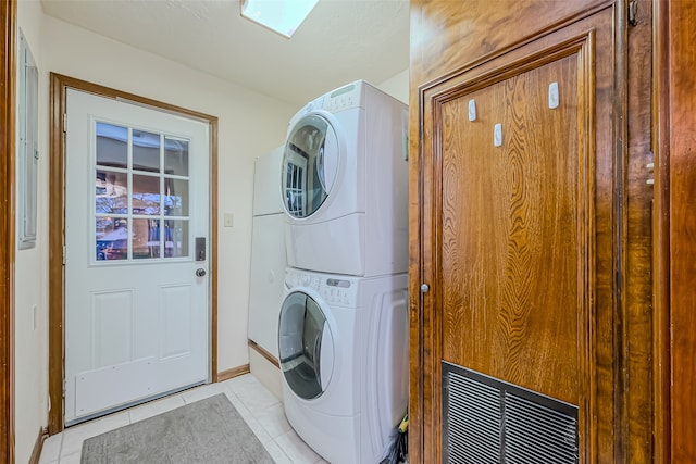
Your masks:
<path fill-rule="evenodd" d="M 481 40 L 411 67 L 413 462 L 443 462 L 443 362 L 573 405 L 579 462 L 622 460 L 625 5 L 535 23 L 551 3 L 412 4 L 412 60 L 433 20 Z"/>

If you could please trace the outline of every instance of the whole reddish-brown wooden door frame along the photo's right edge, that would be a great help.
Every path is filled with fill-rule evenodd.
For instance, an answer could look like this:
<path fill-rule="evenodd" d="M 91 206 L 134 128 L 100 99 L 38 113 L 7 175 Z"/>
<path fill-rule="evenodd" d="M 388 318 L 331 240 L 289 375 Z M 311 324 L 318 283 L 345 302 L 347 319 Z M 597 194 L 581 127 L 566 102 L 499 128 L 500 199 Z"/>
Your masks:
<path fill-rule="evenodd" d="M 693 212 L 696 189 L 693 68 L 696 34 L 693 2 L 654 0 L 652 150 L 655 162 L 654 291 L 656 463 L 696 460 L 692 362 L 696 347 L 693 314 Z M 674 273 L 672 273 L 674 271 Z"/>

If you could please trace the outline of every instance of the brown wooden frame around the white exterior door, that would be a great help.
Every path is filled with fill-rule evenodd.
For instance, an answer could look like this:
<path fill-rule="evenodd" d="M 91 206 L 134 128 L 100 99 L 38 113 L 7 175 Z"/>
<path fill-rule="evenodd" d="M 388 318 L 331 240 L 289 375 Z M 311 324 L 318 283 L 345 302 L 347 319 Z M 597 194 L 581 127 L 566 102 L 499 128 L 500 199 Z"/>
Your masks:
<path fill-rule="evenodd" d="M 210 125 L 210 366 L 211 381 L 217 381 L 217 117 L 136 96 L 109 87 L 55 73 L 50 74 L 50 174 L 49 174 L 49 435 L 65 427 L 63 377 L 65 360 L 64 313 L 65 275 L 65 134 L 63 114 L 66 113 L 67 89 L 82 90 L 99 97 L 130 102 Z"/>

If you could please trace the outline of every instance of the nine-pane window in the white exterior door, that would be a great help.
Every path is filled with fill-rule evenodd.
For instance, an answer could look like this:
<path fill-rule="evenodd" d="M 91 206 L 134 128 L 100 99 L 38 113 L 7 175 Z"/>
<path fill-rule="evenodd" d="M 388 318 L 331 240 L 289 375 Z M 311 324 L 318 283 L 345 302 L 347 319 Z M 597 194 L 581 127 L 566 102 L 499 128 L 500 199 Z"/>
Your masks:
<path fill-rule="evenodd" d="M 189 140 L 96 123 L 95 260 L 189 256 Z"/>

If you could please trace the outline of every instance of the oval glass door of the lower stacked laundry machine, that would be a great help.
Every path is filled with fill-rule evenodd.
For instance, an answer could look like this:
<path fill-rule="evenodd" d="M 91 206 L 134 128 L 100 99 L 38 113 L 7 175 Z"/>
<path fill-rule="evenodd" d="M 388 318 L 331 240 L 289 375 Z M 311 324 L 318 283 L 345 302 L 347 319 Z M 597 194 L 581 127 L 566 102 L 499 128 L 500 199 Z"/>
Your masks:
<path fill-rule="evenodd" d="M 302 291 L 288 294 L 281 308 L 278 352 L 295 394 L 306 400 L 321 397 L 334 371 L 334 340 L 321 308 Z"/>

